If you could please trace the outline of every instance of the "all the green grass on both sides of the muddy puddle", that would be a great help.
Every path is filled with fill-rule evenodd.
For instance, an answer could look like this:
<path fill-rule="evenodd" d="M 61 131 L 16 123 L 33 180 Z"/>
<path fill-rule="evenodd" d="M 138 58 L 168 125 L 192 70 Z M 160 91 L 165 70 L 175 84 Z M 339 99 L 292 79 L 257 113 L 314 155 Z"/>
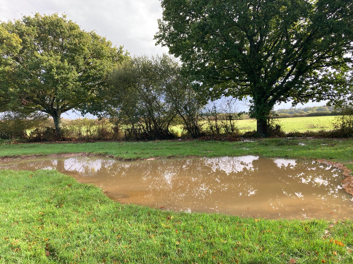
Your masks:
<path fill-rule="evenodd" d="M 259 155 L 329 159 L 353 169 L 352 146 L 334 139 L 3 144 L 0 157 Z M 0 170 L 0 263 L 353 263 L 352 250 L 352 220 L 173 213 L 121 205 L 56 171 Z"/>

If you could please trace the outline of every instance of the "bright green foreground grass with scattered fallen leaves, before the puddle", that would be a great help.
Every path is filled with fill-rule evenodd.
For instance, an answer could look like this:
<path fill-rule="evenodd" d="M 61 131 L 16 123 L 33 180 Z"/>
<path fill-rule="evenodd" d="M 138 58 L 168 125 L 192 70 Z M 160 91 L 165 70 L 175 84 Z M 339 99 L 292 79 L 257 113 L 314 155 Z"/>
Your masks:
<path fill-rule="evenodd" d="M 353 263 L 352 245 L 351 220 L 166 212 L 56 171 L 0 171 L 0 263 Z"/>

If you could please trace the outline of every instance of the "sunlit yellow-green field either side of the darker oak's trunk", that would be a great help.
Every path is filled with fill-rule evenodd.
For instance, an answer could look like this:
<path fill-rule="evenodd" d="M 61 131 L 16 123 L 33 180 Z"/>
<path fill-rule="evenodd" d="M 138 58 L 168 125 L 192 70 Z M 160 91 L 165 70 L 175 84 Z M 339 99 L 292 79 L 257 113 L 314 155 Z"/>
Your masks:
<path fill-rule="evenodd" d="M 285 132 L 305 132 L 307 130 L 316 132 L 319 130 L 332 130 L 332 123 L 337 116 L 325 117 L 292 117 L 292 118 L 278 118 L 276 121 L 282 126 Z M 240 131 L 252 131 L 256 129 L 256 120 L 238 120 L 237 126 Z"/>

